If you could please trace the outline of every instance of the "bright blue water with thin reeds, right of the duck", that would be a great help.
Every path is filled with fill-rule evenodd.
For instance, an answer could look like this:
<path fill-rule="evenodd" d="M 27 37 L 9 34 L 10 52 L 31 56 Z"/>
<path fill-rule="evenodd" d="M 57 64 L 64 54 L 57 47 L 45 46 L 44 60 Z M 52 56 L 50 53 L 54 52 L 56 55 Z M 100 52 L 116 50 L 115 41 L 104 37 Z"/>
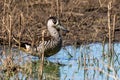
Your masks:
<path fill-rule="evenodd" d="M 114 44 L 110 61 L 108 44 L 93 43 L 76 48 L 67 46 L 49 57 L 60 67 L 60 80 L 118 80 L 120 78 L 120 43 Z"/>

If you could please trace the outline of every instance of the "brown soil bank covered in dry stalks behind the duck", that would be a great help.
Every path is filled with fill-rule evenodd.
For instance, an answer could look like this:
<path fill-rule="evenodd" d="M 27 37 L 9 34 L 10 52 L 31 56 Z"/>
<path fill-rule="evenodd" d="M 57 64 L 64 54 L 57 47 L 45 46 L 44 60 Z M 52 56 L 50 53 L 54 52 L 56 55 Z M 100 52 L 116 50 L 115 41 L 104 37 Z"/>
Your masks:
<path fill-rule="evenodd" d="M 1 0 L 0 43 L 14 44 L 13 36 L 24 41 L 39 41 L 49 16 L 57 16 L 70 31 L 63 33 L 64 45 L 106 42 L 110 1 L 111 40 L 119 42 L 120 0 Z"/>

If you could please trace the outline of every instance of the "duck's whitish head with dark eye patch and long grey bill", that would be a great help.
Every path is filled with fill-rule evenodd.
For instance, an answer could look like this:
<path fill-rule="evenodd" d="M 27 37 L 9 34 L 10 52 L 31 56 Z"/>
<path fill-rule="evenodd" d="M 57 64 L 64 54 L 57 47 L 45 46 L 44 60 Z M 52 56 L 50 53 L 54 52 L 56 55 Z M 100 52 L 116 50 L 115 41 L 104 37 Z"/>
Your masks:
<path fill-rule="evenodd" d="M 69 32 L 66 28 L 64 28 L 61 24 L 60 24 L 60 21 L 52 16 L 52 17 L 49 17 L 48 20 L 47 20 L 47 27 L 51 28 L 51 27 L 54 27 L 56 30 L 63 30 L 63 31 L 66 31 L 66 32 Z"/>

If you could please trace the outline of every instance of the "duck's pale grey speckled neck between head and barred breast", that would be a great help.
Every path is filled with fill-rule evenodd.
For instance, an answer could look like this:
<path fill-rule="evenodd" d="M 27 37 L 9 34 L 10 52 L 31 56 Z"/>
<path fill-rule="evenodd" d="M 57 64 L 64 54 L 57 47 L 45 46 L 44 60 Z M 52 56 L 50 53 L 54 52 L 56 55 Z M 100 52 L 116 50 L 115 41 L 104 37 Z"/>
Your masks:
<path fill-rule="evenodd" d="M 50 32 L 50 35 L 55 38 L 56 40 L 61 39 L 60 33 L 55 29 L 54 27 L 48 27 L 48 31 Z"/>

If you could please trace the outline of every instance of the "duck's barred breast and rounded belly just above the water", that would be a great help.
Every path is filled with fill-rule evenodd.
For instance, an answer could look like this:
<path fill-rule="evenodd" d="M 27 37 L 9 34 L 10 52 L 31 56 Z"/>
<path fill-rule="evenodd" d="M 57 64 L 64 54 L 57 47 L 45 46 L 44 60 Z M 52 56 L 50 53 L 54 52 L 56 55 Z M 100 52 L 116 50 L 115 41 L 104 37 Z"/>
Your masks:
<path fill-rule="evenodd" d="M 62 39 L 55 40 L 55 39 L 50 39 L 48 41 L 44 41 L 40 43 L 40 45 L 37 47 L 37 51 L 39 54 L 43 53 L 44 50 L 44 56 L 49 57 L 51 55 L 56 54 L 62 47 Z"/>

